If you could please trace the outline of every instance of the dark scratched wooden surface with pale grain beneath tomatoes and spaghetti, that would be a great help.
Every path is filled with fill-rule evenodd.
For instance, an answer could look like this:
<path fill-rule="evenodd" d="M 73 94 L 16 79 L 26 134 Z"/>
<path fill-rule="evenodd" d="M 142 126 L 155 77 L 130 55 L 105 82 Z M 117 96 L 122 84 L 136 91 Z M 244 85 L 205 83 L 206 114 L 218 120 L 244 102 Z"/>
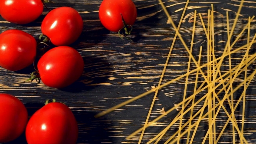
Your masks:
<path fill-rule="evenodd" d="M 33 72 L 30 66 L 18 72 L 10 72 L 0 67 L 0 92 L 10 93 L 20 98 L 28 108 L 31 116 L 37 109 L 43 106 L 46 99 L 56 98 L 57 101 L 65 102 L 73 111 L 79 124 L 79 144 L 135 144 L 138 142 L 139 134 L 132 140 L 125 140 L 132 132 L 141 128 L 148 115 L 154 94 L 150 94 L 129 105 L 126 105 L 102 118 L 93 116 L 107 108 L 117 105 L 129 98 L 144 93 L 158 85 L 164 63 L 166 61 L 175 32 L 164 14 L 158 0 L 134 0 L 138 9 L 138 18 L 134 25 L 131 38 L 134 42 L 120 40 L 117 33 L 106 30 L 98 20 L 98 8 L 101 0 L 54 0 L 56 3 L 47 3 L 50 9 L 61 6 L 73 7 L 79 11 L 84 20 L 83 33 L 79 40 L 72 44 L 85 60 L 85 71 L 78 82 L 68 88 L 59 90 L 49 88 L 43 83 L 23 83 Z M 169 13 L 177 24 L 180 20 L 186 0 L 163 0 Z M 194 10 L 201 13 L 204 22 L 207 23 L 207 13 L 210 4 L 214 4 L 215 17 L 215 39 L 216 56 L 221 56 L 226 44 L 226 11 L 229 11 L 230 27 L 233 24 L 238 10 L 240 0 L 190 0 L 187 11 L 181 25 L 180 33 L 187 45 L 190 45 Z M 40 24 L 47 10 L 33 23 L 25 26 L 8 23 L 0 17 L 0 33 L 7 29 L 22 29 L 38 38 Z M 234 38 L 241 32 L 248 22 L 248 17 L 256 14 L 256 2 L 245 1 L 240 18 L 234 30 Z M 256 32 L 255 20 L 251 23 L 251 39 Z M 247 33 L 239 39 L 233 49 L 247 42 Z M 194 37 L 193 54 L 198 58 L 199 48 L 203 46 L 202 61 L 207 62 L 207 39 L 203 31 L 202 23 L 197 15 L 197 24 Z M 241 61 L 245 49 L 232 55 L 232 65 Z M 255 53 L 255 45 L 252 46 L 250 54 Z M 187 71 L 188 53 L 179 40 L 175 43 L 171 59 L 164 75 L 164 82 L 170 81 Z M 224 59 L 222 71 L 228 70 L 228 59 Z M 195 69 L 191 64 L 190 69 Z M 248 67 L 248 72 L 256 69 L 256 62 Z M 202 79 L 203 81 L 203 79 Z M 238 77 L 236 82 L 242 82 Z M 151 113 L 151 118 L 161 115 L 164 111 L 182 101 L 185 79 L 162 88 L 158 94 L 157 101 Z M 193 85 L 194 79 L 189 79 Z M 198 82 L 200 83 L 200 82 Z M 234 84 L 235 85 L 235 84 Z M 193 91 L 192 87 L 188 91 Z M 241 93 L 242 91 L 239 91 Z M 200 95 L 199 95 L 200 97 Z M 236 95 L 234 99 L 239 97 Z M 234 100 L 234 101 L 235 101 Z M 244 136 L 249 143 L 256 143 L 256 78 L 246 92 L 246 116 Z M 225 105 L 227 101 L 225 101 Z M 241 119 L 242 103 L 236 109 L 236 118 Z M 196 107 L 198 110 L 200 107 Z M 228 108 L 228 106 L 226 106 Z M 179 109 L 177 109 L 179 111 Z M 146 129 L 142 143 L 146 143 L 164 126 L 167 126 L 177 114 L 177 111 L 167 115 L 158 121 L 153 127 Z M 189 118 L 186 115 L 184 119 Z M 220 131 L 226 121 L 226 114 L 220 111 L 216 123 Z M 177 131 L 179 121 L 171 127 L 170 131 L 162 138 L 167 140 L 173 132 Z M 196 135 L 194 143 L 200 143 L 207 130 L 207 119 L 204 119 Z M 241 125 L 240 125 L 241 126 Z M 204 132 L 205 131 L 205 132 Z M 237 136 L 237 139 L 239 137 Z M 186 140 L 186 135 L 184 137 Z M 186 141 L 181 141 L 185 143 Z M 9 144 L 26 144 L 24 135 Z M 232 124 L 226 128 L 220 143 L 232 143 Z"/>

